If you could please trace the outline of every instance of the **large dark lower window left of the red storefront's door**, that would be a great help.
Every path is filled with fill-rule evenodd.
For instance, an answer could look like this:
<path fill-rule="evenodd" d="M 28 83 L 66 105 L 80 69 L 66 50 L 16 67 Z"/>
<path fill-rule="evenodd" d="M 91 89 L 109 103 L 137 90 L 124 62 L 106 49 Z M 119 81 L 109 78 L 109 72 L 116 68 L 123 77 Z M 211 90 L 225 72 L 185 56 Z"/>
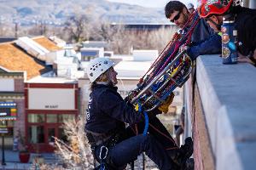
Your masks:
<path fill-rule="evenodd" d="M 32 144 L 44 143 L 44 126 L 28 127 L 29 141 Z"/>

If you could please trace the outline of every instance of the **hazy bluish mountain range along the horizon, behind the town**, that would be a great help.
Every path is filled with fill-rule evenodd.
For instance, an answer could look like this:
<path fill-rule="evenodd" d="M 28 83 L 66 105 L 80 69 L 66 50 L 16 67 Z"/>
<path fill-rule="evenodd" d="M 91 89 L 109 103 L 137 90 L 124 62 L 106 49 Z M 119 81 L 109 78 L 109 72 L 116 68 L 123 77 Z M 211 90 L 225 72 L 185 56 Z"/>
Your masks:
<path fill-rule="evenodd" d="M 61 25 L 75 14 L 122 23 L 164 23 L 164 9 L 143 8 L 106 0 L 0 0 L 0 23 Z"/>

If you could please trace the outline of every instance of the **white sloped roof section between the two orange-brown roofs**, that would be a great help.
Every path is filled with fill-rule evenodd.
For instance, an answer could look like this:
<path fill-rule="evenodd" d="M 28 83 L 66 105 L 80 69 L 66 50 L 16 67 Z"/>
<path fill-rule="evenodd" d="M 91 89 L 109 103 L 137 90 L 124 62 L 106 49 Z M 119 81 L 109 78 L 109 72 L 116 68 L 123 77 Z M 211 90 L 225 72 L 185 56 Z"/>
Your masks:
<path fill-rule="evenodd" d="M 20 37 L 15 43 L 20 46 L 20 48 L 23 48 L 28 54 L 41 60 L 45 60 L 45 54 L 49 53 L 49 50 L 42 47 L 38 42 L 34 42 L 29 37 Z"/>

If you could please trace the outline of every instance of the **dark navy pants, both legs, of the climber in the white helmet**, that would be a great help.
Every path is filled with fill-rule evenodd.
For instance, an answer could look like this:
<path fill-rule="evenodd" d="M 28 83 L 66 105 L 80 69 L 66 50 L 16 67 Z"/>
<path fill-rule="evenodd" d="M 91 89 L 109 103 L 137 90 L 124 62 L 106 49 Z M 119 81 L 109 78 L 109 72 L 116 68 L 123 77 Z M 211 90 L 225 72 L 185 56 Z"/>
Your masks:
<path fill-rule="evenodd" d="M 174 169 L 172 159 L 168 156 L 168 151 L 166 151 L 167 148 L 177 147 L 172 136 L 157 117 L 151 117 L 149 123 L 154 126 L 148 127 L 149 135 L 143 136 L 139 134 L 136 136 L 134 129 L 127 127 L 121 137 L 122 141 L 109 148 L 109 160 L 113 162 L 115 167 L 124 169 L 127 163 L 137 160 L 137 156 L 145 151 L 146 155 L 160 169 Z M 138 123 L 137 126 L 139 133 L 143 133 L 144 122 Z M 161 133 L 165 134 L 165 136 Z M 100 146 L 96 147 L 97 161 L 100 161 L 99 153 Z"/>

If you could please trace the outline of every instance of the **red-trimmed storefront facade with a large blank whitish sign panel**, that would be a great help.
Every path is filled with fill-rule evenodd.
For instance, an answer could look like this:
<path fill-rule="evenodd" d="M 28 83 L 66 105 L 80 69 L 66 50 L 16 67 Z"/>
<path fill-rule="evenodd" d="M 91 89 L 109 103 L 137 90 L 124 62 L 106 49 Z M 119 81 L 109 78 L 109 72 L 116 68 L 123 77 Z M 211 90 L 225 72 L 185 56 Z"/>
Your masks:
<path fill-rule="evenodd" d="M 67 140 L 63 122 L 79 114 L 78 83 L 25 84 L 26 144 L 33 152 L 52 152 L 53 137 Z"/>

